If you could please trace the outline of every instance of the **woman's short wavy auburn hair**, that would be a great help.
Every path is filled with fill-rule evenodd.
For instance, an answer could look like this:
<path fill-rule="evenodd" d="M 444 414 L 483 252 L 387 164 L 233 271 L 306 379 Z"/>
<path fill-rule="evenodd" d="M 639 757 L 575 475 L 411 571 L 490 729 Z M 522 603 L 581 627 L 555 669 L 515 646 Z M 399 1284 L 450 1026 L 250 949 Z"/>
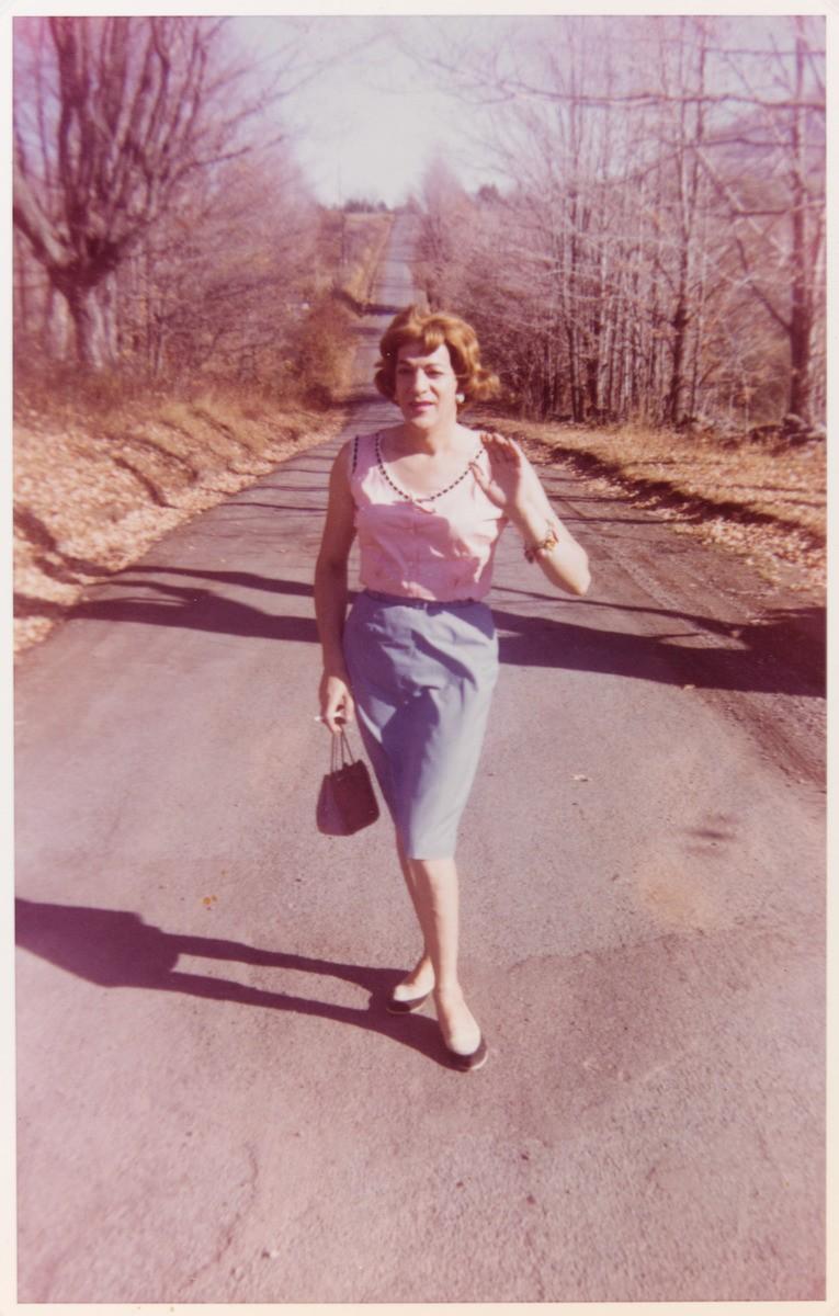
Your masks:
<path fill-rule="evenodd" d="M 500 392 L 497 375 L 481 366 L 477 334 L 472 325 L 448 311 L 422 311 L 418 305 L 410 305 L 391 321 L 379 343 L 381 359 L 376 362 L 373 383 L 389 401 L 396 396 L 398 351 L 409 342 L 421 343 L 426 353 L 446 343 L 451 367 L 467 401 L 483 401 Z"/>

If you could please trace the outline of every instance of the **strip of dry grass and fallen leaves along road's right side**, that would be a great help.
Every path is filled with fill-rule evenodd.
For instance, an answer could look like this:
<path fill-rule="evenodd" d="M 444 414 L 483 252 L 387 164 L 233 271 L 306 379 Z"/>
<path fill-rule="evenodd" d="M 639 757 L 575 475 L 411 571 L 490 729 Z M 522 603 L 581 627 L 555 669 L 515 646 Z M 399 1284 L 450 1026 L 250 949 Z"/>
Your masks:
<path fill-rule="evenodd" d="M 639 426 L 576 429 L 480 412 L 480 424 L 521 438 L 538 462 L 571 461 L 602 488 L 679 519 L 690 534 L 736 553 L 775 584 L 822 603 L 827 471 L 822 443 L 801 447 Z"/>

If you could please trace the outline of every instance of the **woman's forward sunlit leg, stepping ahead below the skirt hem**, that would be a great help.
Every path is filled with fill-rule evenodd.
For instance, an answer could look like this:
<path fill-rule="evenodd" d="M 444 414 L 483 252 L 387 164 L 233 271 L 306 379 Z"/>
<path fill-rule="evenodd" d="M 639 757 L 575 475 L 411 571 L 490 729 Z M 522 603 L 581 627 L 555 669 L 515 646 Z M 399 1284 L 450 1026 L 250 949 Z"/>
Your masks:
<path fill-rule="evenodd" d="M 469 1055 L 480 1042 L 480 1028 L 463 999 L 458 978 L 458 869 L 452 859 L 408 859 L 417 917 L 434 969 L 434 1003 L 443 1041 Z"/>

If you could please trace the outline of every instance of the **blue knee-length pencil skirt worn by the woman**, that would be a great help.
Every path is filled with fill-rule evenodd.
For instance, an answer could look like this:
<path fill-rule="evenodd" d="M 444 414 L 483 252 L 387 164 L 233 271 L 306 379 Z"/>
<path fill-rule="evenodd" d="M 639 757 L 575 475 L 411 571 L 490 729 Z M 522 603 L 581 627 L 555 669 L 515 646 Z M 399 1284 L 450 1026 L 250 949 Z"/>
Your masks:
<path fill-rule="evenodd" d="M 405 854 L 451 858 L 498 675 L 492 612 L 364 591 L 343 651 L 362 740 Z"/>

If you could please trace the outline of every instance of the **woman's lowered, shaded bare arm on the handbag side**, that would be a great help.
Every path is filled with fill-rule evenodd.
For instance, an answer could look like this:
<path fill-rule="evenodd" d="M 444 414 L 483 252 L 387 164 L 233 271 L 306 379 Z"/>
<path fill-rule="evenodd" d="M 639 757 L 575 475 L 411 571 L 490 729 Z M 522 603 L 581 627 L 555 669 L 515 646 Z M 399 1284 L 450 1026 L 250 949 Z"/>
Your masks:
<path fill-rule="evenodd" d="M 355 507 L 350 491 L 351 447 L 351 443 L 345 443 L 333 465 L 326 524 L 314 569 L 314 616 L 324 651 L 321 717 L 333 733 L 355 717 L 342 645 L 347 611 L 347 559 L 355 537 Z"/>

